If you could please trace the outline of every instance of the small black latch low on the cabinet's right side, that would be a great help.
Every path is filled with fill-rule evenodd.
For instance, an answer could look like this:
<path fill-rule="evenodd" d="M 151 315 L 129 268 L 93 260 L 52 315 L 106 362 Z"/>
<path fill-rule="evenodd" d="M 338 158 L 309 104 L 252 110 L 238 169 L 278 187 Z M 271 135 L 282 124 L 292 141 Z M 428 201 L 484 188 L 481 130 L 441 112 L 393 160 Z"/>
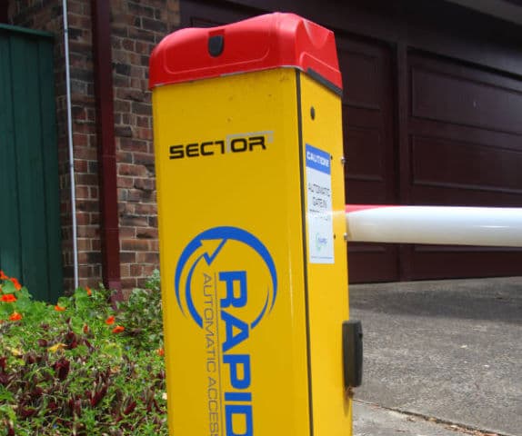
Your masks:
<path fill-rule="evenodd" d="M 343 322 L 343 365 L 346 390 L 360 386 L 363 380 L 363 326 L 360 321 Z"/>

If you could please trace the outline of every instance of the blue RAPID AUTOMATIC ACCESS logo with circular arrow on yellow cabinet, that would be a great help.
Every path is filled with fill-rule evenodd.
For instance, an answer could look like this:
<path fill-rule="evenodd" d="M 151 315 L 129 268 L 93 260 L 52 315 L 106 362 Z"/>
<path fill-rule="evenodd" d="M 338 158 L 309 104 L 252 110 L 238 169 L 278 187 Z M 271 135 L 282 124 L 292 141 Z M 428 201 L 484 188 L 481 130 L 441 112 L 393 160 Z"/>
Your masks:
<path fill-rule="evenodd" d="M 176 265 L 177 304 L 205 335 L 210 436 L 252 436 L 251 332 L 276 303 L 276 265 L 266 246 L 237 227 L 215 227 L 186 245 Z"/>

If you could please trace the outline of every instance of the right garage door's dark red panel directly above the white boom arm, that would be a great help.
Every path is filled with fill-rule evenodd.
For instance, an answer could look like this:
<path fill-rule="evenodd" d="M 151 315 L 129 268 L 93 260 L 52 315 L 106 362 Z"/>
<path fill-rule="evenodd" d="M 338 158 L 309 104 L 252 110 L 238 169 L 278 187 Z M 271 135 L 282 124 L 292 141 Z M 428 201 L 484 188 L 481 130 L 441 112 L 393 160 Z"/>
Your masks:
<path fill-rule="evenodd" d="M 522 194 L 522 152 L 417 135 L 411 149 L 416 185 Z"/>

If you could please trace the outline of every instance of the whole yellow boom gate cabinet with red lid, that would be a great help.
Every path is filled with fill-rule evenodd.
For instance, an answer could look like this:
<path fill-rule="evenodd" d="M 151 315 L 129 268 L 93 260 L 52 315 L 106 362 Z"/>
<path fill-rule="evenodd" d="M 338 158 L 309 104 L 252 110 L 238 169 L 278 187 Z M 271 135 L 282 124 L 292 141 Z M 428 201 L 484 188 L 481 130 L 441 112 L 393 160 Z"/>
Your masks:
<path fill-rule="evenodd" d="M 291 14 L 151 57 L 175 436 L 352 434 L 340 77 L 333 33 Z"/>

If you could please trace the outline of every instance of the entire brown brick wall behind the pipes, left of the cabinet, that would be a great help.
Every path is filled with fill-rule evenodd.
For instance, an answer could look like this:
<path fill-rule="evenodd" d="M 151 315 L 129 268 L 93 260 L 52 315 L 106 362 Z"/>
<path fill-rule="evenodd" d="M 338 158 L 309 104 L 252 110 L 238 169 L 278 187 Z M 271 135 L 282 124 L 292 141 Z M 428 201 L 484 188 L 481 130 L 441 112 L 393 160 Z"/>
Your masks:
<path fill-rule="evenodd" d="M 91 2 L 68 0 L 80 285 L 101 282 L 101 241 Z M 115 145 L 124 289 L 141 286 L 158 267 L 152 110 L 147 90 L 152 49 L 179 25 L 179 0 L 111 0 Z M 72 288 L 73 252 L 66 143 L 65 57 L 61 0 L 11 0 L 9 21 L 46 30 L 55 39 L 65 289 Z"/>

